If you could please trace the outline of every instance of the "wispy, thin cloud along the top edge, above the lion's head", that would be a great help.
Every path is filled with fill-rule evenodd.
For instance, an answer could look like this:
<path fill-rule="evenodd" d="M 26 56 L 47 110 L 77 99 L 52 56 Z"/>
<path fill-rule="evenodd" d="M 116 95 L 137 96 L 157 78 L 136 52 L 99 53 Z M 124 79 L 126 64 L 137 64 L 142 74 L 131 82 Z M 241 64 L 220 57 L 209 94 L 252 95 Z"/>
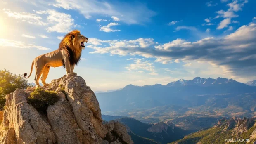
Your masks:
<path fill-rule="evenodd" d="M 156 12 L 148 9 L 146 5 L 126 2 L 106 2 L 97 0 L 55 0 L 54 7 L 77 10 L 86 19 L 96 15 L 123 16 L 120 21 L 127 24 L 142 24 L 151 21 Z"/>

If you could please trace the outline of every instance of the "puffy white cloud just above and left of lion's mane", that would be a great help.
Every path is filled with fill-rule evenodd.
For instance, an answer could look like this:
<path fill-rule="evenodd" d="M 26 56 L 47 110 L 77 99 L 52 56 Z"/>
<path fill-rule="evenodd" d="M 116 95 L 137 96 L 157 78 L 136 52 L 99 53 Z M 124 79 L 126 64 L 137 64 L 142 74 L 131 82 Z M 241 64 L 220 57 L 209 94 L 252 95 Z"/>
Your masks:
<path fill-rule="evenodd" d="M 47 32 L 68 33 L 74 24 L 71 15 L 57 12 L 55 10 L 36 11 L 37 14 L 48 14 L 47 21 L 53 26 L 46 28 Z"/>

